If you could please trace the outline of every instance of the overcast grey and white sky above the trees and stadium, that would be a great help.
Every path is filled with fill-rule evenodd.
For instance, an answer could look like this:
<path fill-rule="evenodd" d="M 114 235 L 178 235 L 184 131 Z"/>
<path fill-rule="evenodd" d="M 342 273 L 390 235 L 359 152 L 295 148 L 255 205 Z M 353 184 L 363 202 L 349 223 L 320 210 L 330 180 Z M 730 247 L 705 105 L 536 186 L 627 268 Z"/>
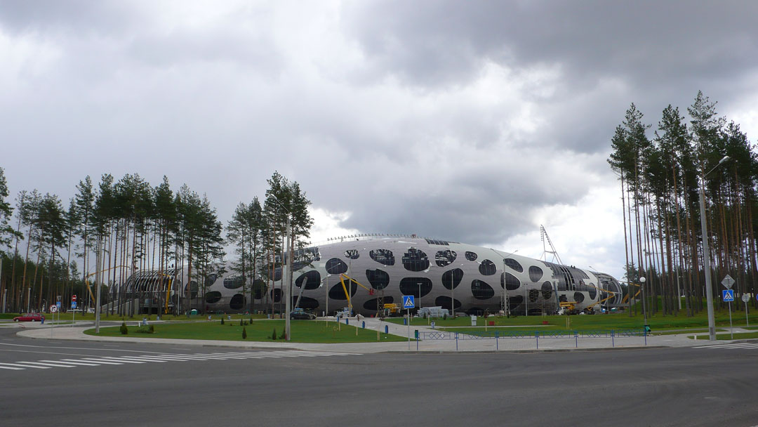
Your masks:
<path fill-rule="evenodd" d="M 758 2 L 0 0 L 0 166 L 165 174 L 226 224 L 278 170 L 312 240 L 405 233 L 621 278 L 609 140 L 697 90 L 758 133 Z M 652 133 L 651 133 L 652 136 Z M 549 259 L 550 260 L 550 259 Z"/>

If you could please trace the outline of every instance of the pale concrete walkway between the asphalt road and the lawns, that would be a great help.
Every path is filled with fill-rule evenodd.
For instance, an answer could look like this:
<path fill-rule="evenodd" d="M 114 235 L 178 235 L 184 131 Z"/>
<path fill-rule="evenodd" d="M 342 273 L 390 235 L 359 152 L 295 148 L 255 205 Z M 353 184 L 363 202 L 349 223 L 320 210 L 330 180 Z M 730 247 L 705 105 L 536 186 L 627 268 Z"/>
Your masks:
<path fill-rule="evenodd" d="M 343 319 L 341 322 L 346 322 Z M 380 319 L 349 318 L 349 325 L 358 325 L 362 327 L 365 322 L 365 328 L 376 331 L 377 329 L 384 332 L 385 326 L 390 334 L 401 337 L 407 337 L 409 328 L 406 325 L 396 325 L 391 322 L 382 322 Z M 102 322 L 103 326 L 114 326 L 120 322 Z M 163 323 L 163 322 L 150 322 Z M 424 352 L 424 353 L 446 353 L 446 352 L 495 352 L 495 351 L 566 351 L 566 350 L 611 350 L 611 349 L 640 349 L 645 347 L 692 347 L 708 343 L 707 332 L 688 333 L 675 335 L 649 335 L 647 343 L 644 337 L 629 338 L 500 338 L 495 340 L 473 339 L 471 336 L 459 334 L 459 339 L 424 339 L 421 341 L 404 341 L 404 342 L 367 342 L 367 343 L 345 343 L 345 344 L 312 344 L 312 343 L 294 343 L 284 341 L 212 341 L 212 340 L 179 340 L 167 338 L 136 338 L 136 337 L 93 337 L 84 334 L 84 331 L 94 328 L 93 322 L 76 322 L 76 325 L 39 325 L 38 323 L 18 323 L 18 324 L 0 324 L 5 328 L 18 328 L 17 334 L 25 338 L 36 339 L 55 339 L 55 340 L 74 340 L 74 341 L 108 341 L 108 342 L 142 342 L 142 343 L 161 343 L 161 344 L 179 344 L 193 345 L 199 347 L 228 347 L 244 349 L 265 349 L 265 350 L 312 350 L 312 351 L 330 351 L 345 353 L 382 353 L 382 352 Z M 418 330 L 421 337 L 424 332 L 439 332 L 428 326 L 411 326 L 410 333 L 413 337 L 414 331 Z M 747 332 L 742 328 L 735 328 L 735 333 Z M 729 332 L 719 332 L 719 334 L 728 334 Z M 455 333 L 446 334 L 451 337 Z M 699 339 L 693 340 L 689 337 L 697 335 Z M 428 337 L 428 334 L 426 334 Z M 467 338 L 468 337 L 468 338 Z M 743 340 L 744 341 L 744 340 Z M 728 344 L 737 341 L 718 341 L 719 344 Z M 716 343 L 713 343 L 716 344 Z"/>

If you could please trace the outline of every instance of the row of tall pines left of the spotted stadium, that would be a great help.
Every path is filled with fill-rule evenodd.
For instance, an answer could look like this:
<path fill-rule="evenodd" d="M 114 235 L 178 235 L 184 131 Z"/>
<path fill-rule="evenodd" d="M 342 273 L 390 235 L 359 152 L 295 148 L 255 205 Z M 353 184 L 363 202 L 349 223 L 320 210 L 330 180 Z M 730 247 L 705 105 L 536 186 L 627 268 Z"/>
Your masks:
<path fill-rule="evenodd" d="M 249 291 L 252 310 L 255 294 L 274 299 L 268 290 L 287 250 L 287 216 L 293 248 L 305 245 L 313 222 L 299 184 L 278 172 L 268 184 L 264 202 L 256 196 L 240 203 L 224 230 L 205 194 L 186 184 L 172 190 L 165 176 L 156 187 L 139 174 L 118 181 L 103 174 L 98 184 L 87 176 L 67 207 L 57 195 L 36 189 L 21 190 L 11 206 L 0 168 L 0 303 L 11 312 L 43 311 L 58 296 L 67 306 L 78 294 L 80 305 L 89 307 L 95 284 L 109 314 L 133 316 L 168 306 L 177 313 L 203 310 L 205 290 L 225 272 L 224 247 L 232 246 L 233 280 Z M 135 281 L 136 272 L 158 279 Z"/>

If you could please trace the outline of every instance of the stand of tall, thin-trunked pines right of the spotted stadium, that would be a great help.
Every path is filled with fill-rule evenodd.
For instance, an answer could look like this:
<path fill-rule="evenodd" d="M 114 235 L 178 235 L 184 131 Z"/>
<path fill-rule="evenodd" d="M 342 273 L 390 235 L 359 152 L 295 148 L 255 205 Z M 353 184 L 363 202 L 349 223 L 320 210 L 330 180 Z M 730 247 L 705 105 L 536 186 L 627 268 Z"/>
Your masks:
<path fill-rule="evenodd" d="M 754 146 L 700 91 L 687 113 L 667 105 L 650 134 L 652 126 L 632 103 L 611 140 L 608 162 L 621 184 L 626 278 L 631 294 L 644 296 L 649 314 L 682 309 L 693 316 L 703 309 L 704 240 L 711 248 L 714 297 L 721 300 L 719 283 L 727 274 L 735 278 L 738 294 L 755 295 Z M 707 236 L 700 228 L 701 188 Z"/>

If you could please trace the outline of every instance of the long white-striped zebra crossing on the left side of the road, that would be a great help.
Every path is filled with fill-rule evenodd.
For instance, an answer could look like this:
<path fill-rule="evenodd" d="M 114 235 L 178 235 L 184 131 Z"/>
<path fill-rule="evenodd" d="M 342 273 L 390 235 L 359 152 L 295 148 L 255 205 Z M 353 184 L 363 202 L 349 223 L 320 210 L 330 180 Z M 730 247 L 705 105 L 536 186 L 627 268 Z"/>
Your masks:
<path fill-rule="evenodd" d="M 758 344 L 756 344 L 758 345 Z M 82 356 L 78 359 L 30 360 L 0 363 L 0 369 L 23 371 L 24 369 L 75 368 L 81 366 L 123 365 L 124 363 L 208 362 L 218 360 L 270 359 L 280 357 L 359 356 L 360 353 L 337 353 L 303 350 L 229 351 L 214 353 L 151 353 L 135 356 Z"/>

